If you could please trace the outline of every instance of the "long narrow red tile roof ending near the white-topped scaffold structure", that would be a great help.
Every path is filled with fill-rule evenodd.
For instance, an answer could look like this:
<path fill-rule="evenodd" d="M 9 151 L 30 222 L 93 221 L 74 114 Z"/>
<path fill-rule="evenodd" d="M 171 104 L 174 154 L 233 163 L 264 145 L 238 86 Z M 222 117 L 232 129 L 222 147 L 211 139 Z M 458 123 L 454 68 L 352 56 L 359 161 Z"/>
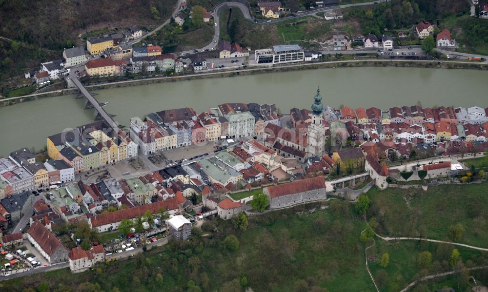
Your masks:
<path fill-rule="evenodd" d="M 164 201 L 110 212 L 107 214 L 91 215 L 90 221 L 92 227 L 98 227 L 105 224 L 119 222 L 122 219 L 133 219 L 136 216 L 143 215 L 146 211 L 151 211 L 152 213 L 155 213 L 158 212 L 160 209 L 177 210 L 179 208 L 178 205 L 184 203 L 185 201 L 186 199 L 183 197 L 183 195 L 180 192 L 177 192 L 175 197 L 168 198 Z"/>

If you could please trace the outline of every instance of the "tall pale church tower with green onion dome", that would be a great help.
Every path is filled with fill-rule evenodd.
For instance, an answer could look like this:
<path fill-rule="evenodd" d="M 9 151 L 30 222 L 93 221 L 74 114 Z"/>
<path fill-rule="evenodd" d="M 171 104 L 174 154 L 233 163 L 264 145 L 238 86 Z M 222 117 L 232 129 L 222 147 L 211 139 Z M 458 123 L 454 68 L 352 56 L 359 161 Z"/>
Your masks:
<path fill-rule="evenodd" d="M 308 126 L 306 153 L 310 156 L 325 155 L 325 126 L 322 123 L 322 111 L 324 105 L 322 104 L 322 96 L 320 95 L 320 87 L 317 88 L 317 94 L 314 103 L 312 104 L 312 112 L 310 117 L 312 122 Z"/>

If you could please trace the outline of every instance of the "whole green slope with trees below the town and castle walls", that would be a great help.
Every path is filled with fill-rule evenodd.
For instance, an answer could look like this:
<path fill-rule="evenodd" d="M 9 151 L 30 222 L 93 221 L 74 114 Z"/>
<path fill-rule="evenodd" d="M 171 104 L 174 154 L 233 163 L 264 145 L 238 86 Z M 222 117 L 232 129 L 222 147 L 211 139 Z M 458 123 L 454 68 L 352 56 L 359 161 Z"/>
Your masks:
<path fill-rule="evenodd" d="M 442 239 L 447 237 L 450 225 L 461 223 L 465 232 L 459 242 L 486 247 L 486 186 L 487 182 L 430 187 L 427 193 L 372 189 L 367 193 L 371 199 L 367 214 L 376 219 L 376 232 L 393 236 L 426 234 Z M 474 202 L 483 203 L 473 211 Z M 326 209 L 321 210 L 321 205 Z M 101 264 L 91 272 L 71 274 L 64 269 L 5 281 L 0 287 L 24 292 L 43 282 L 51 291 L 65 292 L 243 292 L 242 286 L 255 292 L 375 291 L 364 257 L 371 241 L 360 240 L 366 225 L 350 202 L 331 199 L 308 204 L 307 208 L 302 205 L 250 216 L 248 220 L 244 232 L 236 231 L 230 220 L 212 220 L 204 223 L 203 234 L 194 230 L 188 242 L 171 242 L 127 261 Z M 225 241 L 229 235 L 237 237 L 237 245 Z M 478 283 L 488 283 L 486 271 L 467 273 L 464 268 L 486 265 L 488 253 L 417 240 L 386 242 L 376 237 L 375 243 L 367 256 L 377 257 L 369 262 L 369 268 L 382 292 L 400 291 L 420 274 L 451 271 L 449 260 L 454 248 L 461 253 L 458 264 L 463 272 L 417 285 L 412 291 L 435 291 L 445 285 L 459 285 L 459 291 L 466 291 L 469 275 Z M 422 252 L 432 255 L 431 264 L 425 268 L 418 264 Z M 383 253 L 390 256 L 385 268 L 379 260 Z M 69 279 L 71 288 L 61 279 Z"/>

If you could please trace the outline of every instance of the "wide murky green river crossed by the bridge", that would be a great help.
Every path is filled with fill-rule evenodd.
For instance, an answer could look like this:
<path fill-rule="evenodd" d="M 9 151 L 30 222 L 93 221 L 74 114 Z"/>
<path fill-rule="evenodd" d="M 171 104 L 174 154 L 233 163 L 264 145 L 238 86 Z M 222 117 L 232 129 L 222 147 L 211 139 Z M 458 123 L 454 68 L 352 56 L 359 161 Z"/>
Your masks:
<path fill-rule="evenodd" d="M 324 105 L 488 107 L 488 71 L 358 67 L 273 72 L 234 78 L 204 78 L 179 82 L 97 90 L 108 102 L 105 110 L 123 126 L 130 117 L 163 109 L 193 107 L 207 111 L 224 102 L 275 103 L 283 113 L 309 108 L 320 85 Z M 40 150 L 46 137 L 90 123 L 94 110 L 83 110 L 84 98 L 49 97 L 0 108 L 0 156 L 21 147 Z"/>

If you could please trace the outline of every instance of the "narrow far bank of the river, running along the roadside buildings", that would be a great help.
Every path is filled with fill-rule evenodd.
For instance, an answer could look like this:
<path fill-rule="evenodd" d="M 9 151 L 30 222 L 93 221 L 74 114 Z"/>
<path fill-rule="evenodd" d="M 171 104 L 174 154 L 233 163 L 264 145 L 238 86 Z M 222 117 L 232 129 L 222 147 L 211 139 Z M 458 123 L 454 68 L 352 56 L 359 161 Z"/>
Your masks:
<path fill-rule="evenodd" d="M 468 70 L 488 70 L 486 63 L 471 63 L 471 62 L 457 62 L 457 61 L 435 61 L 435 60 L 339 60 L 339 61 L 324 61 L 317 63 L 299 63 L 283 66 L 261 67 L 240 69 L 234 71 L 220 71 L 220 72 L 206 72 L 202 74 L 191 74 L 182 76 L 169 77 L 154 77 L 142 78 L 133 80 L 115 81 L 103 84 L 87 85 L 90 89 L 113 89 L 127 86 L 147 85 L 162 82 L 175 82 L 184 80 L 194 80 L 203 78 L 223 78 L 223 77 L 237 77 L 254 74 L 264 74 L 269 72 L 286 72 L 297 70 L 314 70 L 326 68 L 347 68 L 347 67 L 405 67 L 405 68 L 431 68 L 431 69 L 468 69 Z M 4 98 L 0 100 L 0 107 L 13 105 L 20 102 L 37 100 L 45 97 L 57 97 L 62 95 L 76 94 L 78 89 L 66 88 L 56 91 L 49 91 L 44 93 L 31 94 L 20 97 Z"/>

